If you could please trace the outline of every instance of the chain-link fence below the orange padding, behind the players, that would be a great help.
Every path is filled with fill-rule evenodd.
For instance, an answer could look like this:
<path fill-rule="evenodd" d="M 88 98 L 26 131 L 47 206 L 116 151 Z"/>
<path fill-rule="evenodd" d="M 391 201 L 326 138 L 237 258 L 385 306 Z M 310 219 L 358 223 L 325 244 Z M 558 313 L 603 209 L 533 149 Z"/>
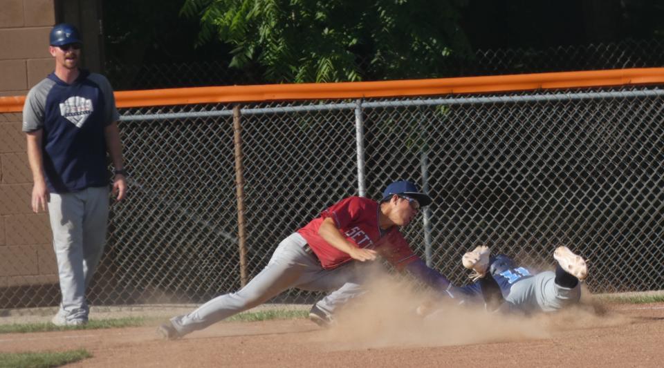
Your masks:
<path fill-rule="evenodd" d="M 457 284 L 461 255 L 478 244 L 537 269 L 567 244 L 588 258 L 593 292 L 664 289 L 663 102 L 664 90 L 640 87 L 243 104 L 240 130 L 225 104 L 122 110 L 131 193 L 112 206 L 89 298 L 204 302 L 234 291 L 322 209 L 378 198 L 398 179 L 434 197 L 405 233 Z M 1 290 L 12 306 L 59 301 L 55 284 Z M 279 300 L 319 296 L 293 289 Z"/>

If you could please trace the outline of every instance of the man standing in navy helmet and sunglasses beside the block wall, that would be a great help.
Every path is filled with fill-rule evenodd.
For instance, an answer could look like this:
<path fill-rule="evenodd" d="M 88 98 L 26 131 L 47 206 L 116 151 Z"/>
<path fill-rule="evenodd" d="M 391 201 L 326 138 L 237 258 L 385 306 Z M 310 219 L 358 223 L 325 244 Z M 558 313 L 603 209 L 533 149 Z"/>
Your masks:
<path fill-rule="evenodd" d="M 113 195 L 127 194 L 120 119 L 109 81 L 79 68 L 82 42 L 70 24 L 50 30 L 55 71 L 30 89 L 23 110 L 32 207 L 46 211 L 53 231 L 62 302 L 52 322 L 83 325 L 85 291 L 104 251 L 109 215 L 108 151 L 115 168 Z"/>

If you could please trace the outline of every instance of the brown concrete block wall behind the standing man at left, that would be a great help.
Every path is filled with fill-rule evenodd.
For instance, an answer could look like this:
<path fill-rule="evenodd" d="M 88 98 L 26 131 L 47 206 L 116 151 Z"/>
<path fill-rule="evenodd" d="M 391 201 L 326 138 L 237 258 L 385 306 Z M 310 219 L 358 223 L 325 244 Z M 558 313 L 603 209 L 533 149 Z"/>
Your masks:
<path fill-rule="evenodd" d="M 22 96 L 53 70 L 48 32 L 53 0 L 2 0 L 0 96 Z M 28 167 L 21 113 L 0 114 L 0 288 L 57 282 L 46 213 L 30 209 Z"/>

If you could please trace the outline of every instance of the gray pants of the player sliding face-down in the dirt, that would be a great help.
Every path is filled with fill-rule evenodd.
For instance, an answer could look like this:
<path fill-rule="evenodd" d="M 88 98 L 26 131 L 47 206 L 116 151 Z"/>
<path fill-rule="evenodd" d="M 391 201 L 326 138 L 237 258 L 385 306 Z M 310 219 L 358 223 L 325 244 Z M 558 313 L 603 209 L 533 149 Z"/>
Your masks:
<path fill-rule="evenodd" d="M 555 272 L 544 271 L 515 282 L 505 300 L 522 311 L 551 312 L 574 304 L 580 298 L 580 282 L 571 289 L 561 287 L 555 283 Z"/>

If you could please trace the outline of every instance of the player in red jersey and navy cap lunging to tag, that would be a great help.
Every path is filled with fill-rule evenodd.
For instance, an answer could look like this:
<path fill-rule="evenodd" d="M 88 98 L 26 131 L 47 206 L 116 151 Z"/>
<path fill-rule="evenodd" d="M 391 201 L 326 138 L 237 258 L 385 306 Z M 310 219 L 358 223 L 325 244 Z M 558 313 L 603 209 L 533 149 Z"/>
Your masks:
<path fill-rule="evenodd" d="M 371 275 L 367 266 L 378 255 L 445 293 L 448 279 L 427 267 L 399 231 L 421 206 L 431 202 L 429 195 L 407 181 L 389 184 L 380 202 L 365 197 L 340 200 L 283 240 L 268 265 L 241 290 L 171 318 L 158 333 L 167 339 L 181 338 L 263 304 L 291 287 L 331 291 L 309 315 L 318 325 L 329 325 L 336 307 L 363 292 L 362 283 Z"/>

